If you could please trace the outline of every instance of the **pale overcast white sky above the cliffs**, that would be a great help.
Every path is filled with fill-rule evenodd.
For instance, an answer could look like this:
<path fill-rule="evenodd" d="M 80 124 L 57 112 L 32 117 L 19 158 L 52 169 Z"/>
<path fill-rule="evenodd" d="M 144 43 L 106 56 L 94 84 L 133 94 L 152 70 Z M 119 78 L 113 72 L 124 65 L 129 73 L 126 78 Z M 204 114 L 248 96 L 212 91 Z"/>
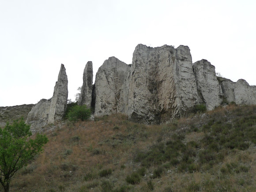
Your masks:
<path fill-rule="evenodd" d="M 188 45 L 233 81 L 256 85 L 256 0 L 0 0 L 0 106 L 51 98 L 60 64 L 68 98 L 93 62 L 132 63 L 138 44 Z"/>

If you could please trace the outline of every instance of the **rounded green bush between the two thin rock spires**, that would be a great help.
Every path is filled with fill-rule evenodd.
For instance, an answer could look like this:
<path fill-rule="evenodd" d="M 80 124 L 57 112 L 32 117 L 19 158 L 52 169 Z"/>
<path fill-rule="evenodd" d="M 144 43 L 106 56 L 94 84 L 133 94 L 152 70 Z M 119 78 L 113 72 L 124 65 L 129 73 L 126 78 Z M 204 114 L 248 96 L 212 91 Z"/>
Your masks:
<path fill-rule="evenodd" d="M 90 109 L 86 105 L 75 105 L 68 112 L 68 120 L 87 120 L 90 118 Z"/>

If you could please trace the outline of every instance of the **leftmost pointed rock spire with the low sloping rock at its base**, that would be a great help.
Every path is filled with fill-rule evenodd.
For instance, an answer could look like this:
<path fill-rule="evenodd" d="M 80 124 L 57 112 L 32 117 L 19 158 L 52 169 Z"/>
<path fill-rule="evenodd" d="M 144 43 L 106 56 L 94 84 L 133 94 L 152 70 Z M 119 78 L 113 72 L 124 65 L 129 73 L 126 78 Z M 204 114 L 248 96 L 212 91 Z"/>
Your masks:
<path fill-rule="evenodd" d="M 56 120 L 62 119 L 68 100 L 68 77 L 66 69 L 61 64 L 58 81 L 55 84 L 53 97 L 49 100 L 41 99 L 33 106 L 26 123 L 31 125 L 33 132 L 37 132 L 46 124 L 54 123 Z"/>

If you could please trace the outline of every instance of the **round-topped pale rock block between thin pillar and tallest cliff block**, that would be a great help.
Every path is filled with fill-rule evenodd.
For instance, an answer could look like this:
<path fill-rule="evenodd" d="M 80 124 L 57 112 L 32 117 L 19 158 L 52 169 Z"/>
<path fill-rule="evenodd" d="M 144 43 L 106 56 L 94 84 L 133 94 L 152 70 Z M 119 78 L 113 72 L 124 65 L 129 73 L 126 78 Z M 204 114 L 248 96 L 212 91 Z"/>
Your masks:
<path fill-rule="evenodd" d="M 95 116 L 123 113 L 125 105 L 120 97 L 129 66 L 116 57 L 109 57 L 98 69 L 95 79 Z"/>

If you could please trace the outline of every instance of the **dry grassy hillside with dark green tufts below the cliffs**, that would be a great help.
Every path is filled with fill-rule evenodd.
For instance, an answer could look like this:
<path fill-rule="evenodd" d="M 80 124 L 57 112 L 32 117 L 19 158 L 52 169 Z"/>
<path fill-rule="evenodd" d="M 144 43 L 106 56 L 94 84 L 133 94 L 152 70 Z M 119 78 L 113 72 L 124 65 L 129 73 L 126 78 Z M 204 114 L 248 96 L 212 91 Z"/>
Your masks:
<path fill-rule="evenodd" d="M 54 126 L 11 191 L 256 190 L 256 106 L 228 105 L 162 125 L 115 114 Z"/>

